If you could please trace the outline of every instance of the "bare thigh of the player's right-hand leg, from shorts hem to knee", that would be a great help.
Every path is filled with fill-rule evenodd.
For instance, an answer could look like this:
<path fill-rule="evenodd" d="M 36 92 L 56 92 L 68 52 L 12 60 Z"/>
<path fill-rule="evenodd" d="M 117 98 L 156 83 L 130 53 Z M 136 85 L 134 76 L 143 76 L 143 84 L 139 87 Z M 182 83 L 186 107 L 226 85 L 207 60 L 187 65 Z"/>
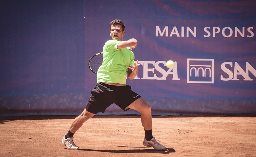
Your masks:
<path fill-rule="evenodd" d="M 147 103 L 147 101 L 145 99 L 143 99 L 142 97 L 133 101 L 128 108 L 136 110 L 140 113 L 143 112 L 151 112 L 151 106 Z"/>

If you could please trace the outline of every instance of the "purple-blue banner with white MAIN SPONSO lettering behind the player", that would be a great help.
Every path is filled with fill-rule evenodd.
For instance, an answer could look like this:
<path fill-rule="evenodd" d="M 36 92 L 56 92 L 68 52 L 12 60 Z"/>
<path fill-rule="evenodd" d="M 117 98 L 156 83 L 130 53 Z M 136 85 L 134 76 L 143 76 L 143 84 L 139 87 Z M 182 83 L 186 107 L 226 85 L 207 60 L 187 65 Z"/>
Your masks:
<path fill-rule="evenodd" d="M 121 19 L 126 26 L 123 39 L 138 40 L 132 51 L 140 67 L 137 77 L 127 83 L 148 101 L 162 101 L 157 107 L 151 103 L 153 110 L 167 109 L 165 101 L 174 99 L 182 102 L 181 112 L 187 112 L 191 104 L 181 100 L 202 101 L 193 112 L 203 112 L 205 100 L 218 108 L 209 109 L 209 113 L 228 113 L 224 101 L 237 108 L 243 100 L 253 103 L 256 111 L 255 1 L 110 3 L 85 1 L 85 37 L 91 37 L 85 38 L 86 61 L 111 39 L 109 23 Z M 166 67 L 168 60 L 174 61 L 170 69 Z M 86 76 L 89 84 L 85 90 L 89 92 L 96 75 L 87 68 Z"/>

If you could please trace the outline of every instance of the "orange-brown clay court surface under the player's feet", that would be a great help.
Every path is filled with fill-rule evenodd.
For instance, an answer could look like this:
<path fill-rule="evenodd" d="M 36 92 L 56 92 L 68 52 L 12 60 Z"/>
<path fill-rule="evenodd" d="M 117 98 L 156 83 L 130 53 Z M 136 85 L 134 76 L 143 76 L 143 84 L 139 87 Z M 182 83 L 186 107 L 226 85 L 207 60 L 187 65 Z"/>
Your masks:
<path fill-rule="evenodd" d="M 80 150 L 61 144 L 76 116 L 0 117 L 0 156 L 251 157 L 256 117 L 153 116 L 153 136 L 166 151 L 145 147 L 140 116 L 94 116 L 74 135 Z"/>

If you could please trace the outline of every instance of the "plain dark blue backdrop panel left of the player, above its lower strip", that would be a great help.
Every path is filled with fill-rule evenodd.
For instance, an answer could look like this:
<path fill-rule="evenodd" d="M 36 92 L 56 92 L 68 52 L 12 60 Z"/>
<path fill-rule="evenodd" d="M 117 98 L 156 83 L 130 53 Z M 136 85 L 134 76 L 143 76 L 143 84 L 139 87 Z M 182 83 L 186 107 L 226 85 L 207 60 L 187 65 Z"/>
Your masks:
<path fill-rule="evenodd" d="M 0 93 L 83 92 L 83 1 L 1 1 Z"/>

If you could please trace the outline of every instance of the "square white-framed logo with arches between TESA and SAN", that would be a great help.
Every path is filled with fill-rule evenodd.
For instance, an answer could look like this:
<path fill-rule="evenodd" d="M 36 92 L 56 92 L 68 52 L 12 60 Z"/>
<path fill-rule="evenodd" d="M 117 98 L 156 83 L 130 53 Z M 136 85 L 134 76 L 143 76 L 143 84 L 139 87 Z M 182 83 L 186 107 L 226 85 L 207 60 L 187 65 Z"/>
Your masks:
<path fill-rule="evenodd" d="M 214 59 L 187 59 L 187 83 L 214 83 Z"/>

